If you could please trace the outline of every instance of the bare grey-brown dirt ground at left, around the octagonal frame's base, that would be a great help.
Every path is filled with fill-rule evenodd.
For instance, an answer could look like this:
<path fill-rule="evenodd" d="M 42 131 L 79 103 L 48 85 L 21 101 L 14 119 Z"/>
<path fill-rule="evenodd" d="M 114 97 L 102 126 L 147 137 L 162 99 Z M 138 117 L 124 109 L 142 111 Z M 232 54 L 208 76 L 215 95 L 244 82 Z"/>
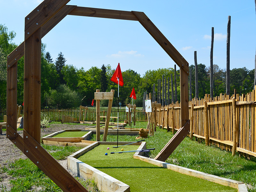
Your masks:
<path fill-rule="evenodd" d="M 41 137 L 44 137 L 46 135 L 49 135 L 54 132 L 58 132 L 64 129 L 84 129 L 86 125 L 83 124 L 74 124 L 74 125 L 68 125 L 68 124 L 51 124 L 49 128 L 41 129 Z M 21 137 L 23 137 L 23 131 L 18 131 Z M 19 148 L 17 148 L 12 141 L 6 138 L 6 131 L 3 130 L 2 135 L 0 135 L 0 168 L 3 166 L 7 166 L 9 163 L 14 162 L 15 160 L 18 160 L 20 158 L 26 159 L 27 156 L 25 156 L 22 151 L 20 151 Z M 59 163 L 67 169 L 67 160 L 59 161 Z M 9 180 L 11 180 L 12 177 L 7 175 L 6 173 L 0 172 L 0 186 L 6 187 L 6 189 L 10 189 L 10 183 Z"/>

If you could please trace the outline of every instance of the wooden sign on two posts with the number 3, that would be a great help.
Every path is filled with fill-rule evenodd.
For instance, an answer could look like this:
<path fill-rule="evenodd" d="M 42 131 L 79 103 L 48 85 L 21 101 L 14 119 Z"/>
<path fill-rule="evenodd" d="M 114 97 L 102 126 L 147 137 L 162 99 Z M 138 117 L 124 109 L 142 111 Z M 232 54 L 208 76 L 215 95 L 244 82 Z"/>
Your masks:
<path fill-rule="evenodd" d="M 108 100 L 108 111 L 105 121 L 103 141 L 107 140 L 108 125 L 111 114 L 112 103 L 114 99 L 115 90 L 111 89 L 110 92 L 100 92 L 99 89 L 94 93 L 94 99 L 96 100 L 96 140 L 100 141 L 100 100 Z"/>

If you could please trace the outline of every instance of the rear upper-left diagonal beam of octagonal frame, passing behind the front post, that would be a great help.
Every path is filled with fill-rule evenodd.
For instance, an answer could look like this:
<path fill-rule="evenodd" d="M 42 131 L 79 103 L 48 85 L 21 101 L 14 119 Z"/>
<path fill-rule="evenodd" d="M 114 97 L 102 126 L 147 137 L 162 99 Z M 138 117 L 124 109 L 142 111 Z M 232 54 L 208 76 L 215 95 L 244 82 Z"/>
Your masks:
<path fill-rule="evenodd" d="M 63 18 L 65 18 L 70 11 L 72 11 L 76 6 L 75 5 L 65 5 L 57 12 L 50 20 L 48 20 L 42 26 L 42 38 L 52 30 Z M 14 49 L 7 56 L 7 70 L 12 67 L 12 65 L 17 62 L 24 55 L 24 44 L 23 41 L 16 49 Z"/>

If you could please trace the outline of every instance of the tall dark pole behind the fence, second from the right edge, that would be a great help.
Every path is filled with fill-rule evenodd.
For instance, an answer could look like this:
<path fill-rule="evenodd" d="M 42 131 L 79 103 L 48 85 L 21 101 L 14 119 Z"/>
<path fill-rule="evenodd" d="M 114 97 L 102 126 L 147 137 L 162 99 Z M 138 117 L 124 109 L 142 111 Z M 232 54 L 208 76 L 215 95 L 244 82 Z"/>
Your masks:
<path fill-rule="evenodd" d="M 228 16 L 228 30 L 227 30 L 227 71 L 226 71 L 226 93 L 230 95 L 230 20 L 231 16 Z"/>

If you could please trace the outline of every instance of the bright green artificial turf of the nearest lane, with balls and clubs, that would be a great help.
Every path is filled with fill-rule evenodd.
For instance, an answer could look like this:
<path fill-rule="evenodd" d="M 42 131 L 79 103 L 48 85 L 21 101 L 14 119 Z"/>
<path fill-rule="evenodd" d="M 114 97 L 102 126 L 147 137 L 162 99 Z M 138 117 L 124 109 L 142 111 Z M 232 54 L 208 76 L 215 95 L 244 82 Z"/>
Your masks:
<path fill-rule="evenodd" d="M 237 191 L 235 188 L 174 172 L 139 159 L 133 159 L 134 153 L 110 154 L 110 152 L 121 151 L 121 148 L 126 151 L 136 150 L 138 147 L 138 145 L 127 145 L 113 148 L 113 145 L 99 145 L 78 159 L 129 185 L 131 192 Z M 108 153 L 108 155 L 106 156 L 105 153 Z"/>

